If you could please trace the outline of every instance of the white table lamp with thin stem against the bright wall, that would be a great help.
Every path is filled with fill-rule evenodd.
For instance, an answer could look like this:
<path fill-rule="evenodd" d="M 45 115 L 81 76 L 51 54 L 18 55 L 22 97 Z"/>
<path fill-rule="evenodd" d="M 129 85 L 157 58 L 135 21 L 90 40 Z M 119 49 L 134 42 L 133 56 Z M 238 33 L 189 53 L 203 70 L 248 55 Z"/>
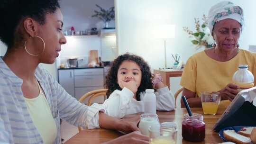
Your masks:
<path fill-rule="evenodd" d="M 175 38 L 175 25 L 157 25 L 154 29 L 154 35 L 157 39 L 163 39 L 165 43 L 165 68 L 167 69 L 166 63 L 166 40 L 169 38 Z"/>

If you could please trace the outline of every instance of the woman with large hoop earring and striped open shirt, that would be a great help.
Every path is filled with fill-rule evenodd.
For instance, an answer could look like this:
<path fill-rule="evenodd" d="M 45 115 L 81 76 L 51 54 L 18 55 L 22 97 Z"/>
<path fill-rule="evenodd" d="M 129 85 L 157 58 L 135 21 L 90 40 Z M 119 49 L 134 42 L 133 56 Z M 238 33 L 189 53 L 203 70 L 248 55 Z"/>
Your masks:
<path fill-rule="evenodd" d="M 61 45 L 63 16 L 58 0 L 1 0 L 0 40 L 8 46 L 0 59 L 0 143 L 60 144 L 60 118 L 75 126 L 138 130 L 70 96 L 39 63 L 54 63 Z M 138 131 L 109 143 L 148 144 Z"/>

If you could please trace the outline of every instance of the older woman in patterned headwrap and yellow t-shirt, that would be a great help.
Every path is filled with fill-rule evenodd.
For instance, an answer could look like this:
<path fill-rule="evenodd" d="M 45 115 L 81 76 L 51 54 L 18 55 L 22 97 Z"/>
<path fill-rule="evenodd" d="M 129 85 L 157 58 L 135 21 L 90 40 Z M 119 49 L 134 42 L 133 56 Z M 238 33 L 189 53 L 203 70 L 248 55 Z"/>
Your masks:
<path fill-rule="evenodd" d="M 209 10 L 209 28 L 215 44 L 188 59 L 181 80 L 190 107 L 201 107 L 201 91 L 219 91 L 223 100 L 220 105 L 227 107 L 238 93 L 232 76 L 239 64 L 248 64 L 256 76 L 256 55 L 239 49 L 243 26 L 243 9 L 232 2 L 219 2 Z"/>

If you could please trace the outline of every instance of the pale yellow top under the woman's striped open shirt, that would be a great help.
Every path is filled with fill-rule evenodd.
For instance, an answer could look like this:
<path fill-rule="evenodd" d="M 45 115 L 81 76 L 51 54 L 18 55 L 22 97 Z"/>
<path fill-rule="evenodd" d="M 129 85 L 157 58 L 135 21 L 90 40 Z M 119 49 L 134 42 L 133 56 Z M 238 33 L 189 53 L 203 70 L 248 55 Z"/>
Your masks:
<path fill-rule="evenodd" d="M 43 138 L 44 144 L 54 144 L 57 137 L 56 123 L 47 103 L 46 95 L 39 83 L 38 86 L 40 93 L 36 98 L 24 99 L 32 121 Z"/>

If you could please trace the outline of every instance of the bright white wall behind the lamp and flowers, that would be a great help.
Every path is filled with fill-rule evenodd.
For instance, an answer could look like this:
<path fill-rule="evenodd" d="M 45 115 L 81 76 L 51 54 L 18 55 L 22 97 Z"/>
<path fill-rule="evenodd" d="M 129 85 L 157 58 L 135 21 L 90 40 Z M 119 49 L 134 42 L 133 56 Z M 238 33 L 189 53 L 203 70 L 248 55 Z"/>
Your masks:
<path fill-rule="evenodd" d="M 152 69 L 164 67 L 164 41 L 155 39 L 153 29 L 159 24 L 174 24 L 175 38 L 166 42 L 167 67 L 171 67 L 174 60 L 171 54 L 181 55 L 186 61 L 195 50 L 189 36 L 183 27 L 195 30 L 194 18 L 208 15 L 210 7 L 221 0 L 115 0 L 116 27 L 119 54 L 126 52 L 139 54 L 144 57 Z M 254 9 L 256 0 L 230 0 L 244 9 L 246 26 L 240 37 L 239 45 L 248 49 L 248 45 L 255 45 L 256 19 Z M 179 86 L 179 79 L 170 81 L 175 92 Z M 171 86 L 172 88 L 172 86 Z"/>

